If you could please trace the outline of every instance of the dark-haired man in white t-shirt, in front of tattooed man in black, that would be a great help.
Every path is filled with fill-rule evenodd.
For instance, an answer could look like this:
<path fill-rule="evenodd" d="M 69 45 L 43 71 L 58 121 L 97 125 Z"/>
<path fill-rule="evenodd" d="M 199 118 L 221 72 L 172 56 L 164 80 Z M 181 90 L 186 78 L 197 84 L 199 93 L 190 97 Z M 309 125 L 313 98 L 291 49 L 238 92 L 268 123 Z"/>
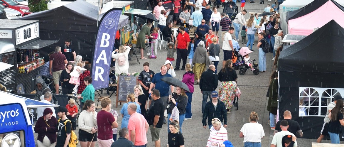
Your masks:
<path fill-rule="evenodd" d="M 286 135 L 295 136 L 293 133 L 290 133 L 288 131 L 288 127 L 289 127 L 288 121 L 282 120 L 281 123 L 280 123 L 280 127 L 281 127 L 282 131 L 276 133 L 275 135 L 273 135 L 270 147 L 283 147 L 282 146 L 282 138 L 283 138 L 283 136 L 286 136 Z M 293 147 L 297 147 L 297 146 L 298 146 L 298 143 L 295 140 L 295 143 L 294 143 Z"/>

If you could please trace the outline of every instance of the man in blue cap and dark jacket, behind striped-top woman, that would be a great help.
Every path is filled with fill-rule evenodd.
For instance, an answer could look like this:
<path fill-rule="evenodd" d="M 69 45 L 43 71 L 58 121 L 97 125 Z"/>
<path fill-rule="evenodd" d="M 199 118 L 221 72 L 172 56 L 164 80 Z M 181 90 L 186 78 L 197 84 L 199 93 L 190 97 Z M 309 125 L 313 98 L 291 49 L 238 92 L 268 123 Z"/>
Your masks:
<path fill-rule="evenodd" d="M 209 101 L 206 103 L 203 113 L 203 119 L 202 124 L 203 127 L 207 127 L 207 118 L 208 118 L 208 125 L 209 129 L 213 126 L 212 125 L 212 119 L 218 118 L 222 123 L 224 127 L 227 127 L 227 112 L 225 103 L 220 101 L 218 99 L 218 93 L 217 91 L 212 92 L 212 101 Z"/>

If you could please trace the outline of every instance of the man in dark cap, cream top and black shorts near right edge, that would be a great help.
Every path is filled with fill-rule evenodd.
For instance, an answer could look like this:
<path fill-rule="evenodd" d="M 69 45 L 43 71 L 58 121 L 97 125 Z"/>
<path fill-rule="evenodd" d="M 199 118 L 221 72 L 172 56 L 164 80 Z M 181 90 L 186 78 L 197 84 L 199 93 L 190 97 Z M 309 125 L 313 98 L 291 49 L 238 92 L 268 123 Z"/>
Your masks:
<path fill-rule="evenodd" d="M 323 124 L 323 127 L 321 128 L 320 136 L 316 140 L 317 143 L 321 143 L 321 140 L 325 136 L 329 136 L 329 132 L 327 131 L 327 127 L 329 126 L 329 122 L 331 120 L 329 118 L 329 114 L 330 114 L 331 110 L 336 106 L 337 100 L 338 99 L 343 99 L 343 98 L 341 96 L 339 96 L 339 95 L 336 95 L 336 96 L 334 96 L 333 99 L 334 99 L 334 101 L 329 103 L 329 105 L 327 105 L 326 117 L 324 118 L 324 124 Z"/>

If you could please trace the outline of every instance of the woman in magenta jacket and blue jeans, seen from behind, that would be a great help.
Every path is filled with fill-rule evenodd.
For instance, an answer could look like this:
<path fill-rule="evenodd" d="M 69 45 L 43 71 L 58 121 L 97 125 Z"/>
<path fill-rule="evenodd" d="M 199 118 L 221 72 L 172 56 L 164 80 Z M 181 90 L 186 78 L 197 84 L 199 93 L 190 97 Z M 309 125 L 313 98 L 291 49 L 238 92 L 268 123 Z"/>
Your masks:
<path fill-rule="evenodd" d="M 186 63 L 185 65 L 185 73 L 183 75 L 183 80 L 182 82 L 185 83 L 187 85 L 187 87 L 189 88 L 189 92 L 185 92 L 186 96 L 187 96 L 187 105 L 186 105 L 186 112 L 185 112 L 185 118 L 184 120 L 189 120 L 192 118 L 192 113 L 191 113 L 191 101 L 192 101 L 192 94 L 194 91 L 194 76 L 195 74 L 192 72 L 191 69 L 191 64 L 190 63 Z"/>

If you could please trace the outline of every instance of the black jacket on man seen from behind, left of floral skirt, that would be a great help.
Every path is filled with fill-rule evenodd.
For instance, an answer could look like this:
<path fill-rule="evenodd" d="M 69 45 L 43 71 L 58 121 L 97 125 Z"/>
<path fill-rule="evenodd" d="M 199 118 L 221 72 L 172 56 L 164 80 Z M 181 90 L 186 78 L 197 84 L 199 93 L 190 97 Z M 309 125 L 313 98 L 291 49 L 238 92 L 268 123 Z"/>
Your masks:
<path fill-rule="evenodd" d="M 201 91 L 214 91 L 217 88 L 218 78 L 214 71 L 207 70 L 202 73 L 200 79 Z"/>

